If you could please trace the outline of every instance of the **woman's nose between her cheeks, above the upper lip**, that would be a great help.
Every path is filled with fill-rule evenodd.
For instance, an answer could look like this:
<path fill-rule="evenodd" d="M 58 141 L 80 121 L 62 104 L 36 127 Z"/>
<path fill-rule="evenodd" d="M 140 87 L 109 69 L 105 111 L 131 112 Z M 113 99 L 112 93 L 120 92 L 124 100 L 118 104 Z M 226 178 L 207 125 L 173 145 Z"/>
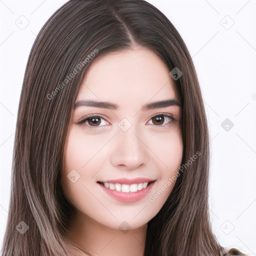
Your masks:
<path fill-rule="evenodd" d="M 118 130 L 112 144 L 110 161 L 112 165 L 136 169 L 149 159 L 145 138 L 136 134 L 132 127 L 127 131 Z"/>

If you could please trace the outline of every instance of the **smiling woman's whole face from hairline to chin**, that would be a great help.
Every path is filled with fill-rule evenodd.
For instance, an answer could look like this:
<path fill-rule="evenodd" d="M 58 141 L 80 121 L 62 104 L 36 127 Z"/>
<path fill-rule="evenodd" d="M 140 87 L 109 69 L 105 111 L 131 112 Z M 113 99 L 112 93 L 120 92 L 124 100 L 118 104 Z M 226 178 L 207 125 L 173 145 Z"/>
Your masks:
<path fill-rule="evenodd" d="M 65 196 L 83 216 L 137 228 L 166 201 L 182 157 L 181 109 L 176 101 L 151 103 L 177 100 L 169 71 L 144 48 L 108 54 L 88 69 L 61 173 Z"/>

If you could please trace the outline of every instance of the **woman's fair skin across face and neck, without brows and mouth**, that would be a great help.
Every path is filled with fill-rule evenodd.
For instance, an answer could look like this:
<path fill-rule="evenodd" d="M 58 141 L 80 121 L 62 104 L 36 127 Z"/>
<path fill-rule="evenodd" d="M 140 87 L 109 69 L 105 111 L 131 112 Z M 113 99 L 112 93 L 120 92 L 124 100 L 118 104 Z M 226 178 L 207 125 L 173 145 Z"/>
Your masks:
<path fill-rule="evenodd" d="M 77 209 L 68 236 L 91 255 L 142 256 L 146 224 L 174 185 L 166 186 L 166 181 L 182 158 L 180 106 L 141 109 L 150 102 L 177 100 L 169 71 L 154 52 L 137 47 L 96 59 L 84 77 L 75 102 L 91 99 L 119 105 L 118 109 L 76 106 L 65 143 L 61 186 Z M 100 118 L 77 123 L 90 115 Z M 120 123 L 129 128 L 124 131 Z M 80 175 L 75 182 L 67 178 L 73 169 L 72 176 Z M 133 202 L 111 197 L 105 192 L 109 188 L 97 182 L 137 177 L 155 181 L 148 194 Z M 162 193 L 150 201 L 159 189 Z M 126 232 L 119 226 L 123 221 L 130 228 Z"/>

